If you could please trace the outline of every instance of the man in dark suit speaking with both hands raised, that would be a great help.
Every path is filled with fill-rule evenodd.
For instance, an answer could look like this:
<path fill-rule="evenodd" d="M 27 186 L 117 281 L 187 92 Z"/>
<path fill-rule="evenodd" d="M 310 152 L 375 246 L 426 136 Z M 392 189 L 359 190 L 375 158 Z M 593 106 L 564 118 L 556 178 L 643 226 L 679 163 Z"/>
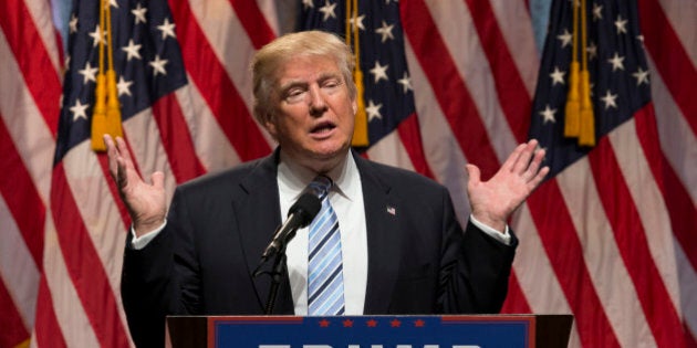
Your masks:
<path fill-rule="evenodd" d="M 267 158 L 183 184 L 168 214 L 163 173 L 144 182 L 123 139 L 105 137 L 112 176 L 133 219 L 122 296 L 136 344 L 162 345 L 167 314 L 263 314 L 270 281 L 253 277 L 253 270 L 318 175 L 334 183 L 326 204 L 341 234 L 341 275 L 332 277 L 340 280 L 333 283 L 340 284 L 339 312 L 308 309 L 314 300 L 310 228 L 288 245 L 274 314 L 500 309 L 518 243 L 507 220 L 549 171 L 540 169 L 544 151 L 535 151 L 535 141 L 520 145 L 487 182 L 468 165 L 472 214 L 462 231 L 443 186 L 351 150 L 357 108 L 352 64 L 339 38 L 318 31 L 262 48 L 252 64 L 254 117 L 279 147 Z"/>

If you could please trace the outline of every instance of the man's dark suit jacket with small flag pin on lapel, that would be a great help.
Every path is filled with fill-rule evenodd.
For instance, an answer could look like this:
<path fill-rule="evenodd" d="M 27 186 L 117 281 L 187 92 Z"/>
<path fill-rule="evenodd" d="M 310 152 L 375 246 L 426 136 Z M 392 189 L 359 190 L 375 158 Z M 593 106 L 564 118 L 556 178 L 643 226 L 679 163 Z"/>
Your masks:
<path fill-rule="evenodd" d="M 445 187 L 353 156 L 367 224 L 364 314 L 499 312 L 517 239 L 503 245 L 471 223 L 464 233 Z M 136 344 L 162 346 L 168 314 L 263 314 L 270 280 L 251 274 L 281 223 L 278 158 L 180 186 L 165 230 L 126 247 L 122 296 Z M 288 276 L 274 308 L 293 314 Z"/>

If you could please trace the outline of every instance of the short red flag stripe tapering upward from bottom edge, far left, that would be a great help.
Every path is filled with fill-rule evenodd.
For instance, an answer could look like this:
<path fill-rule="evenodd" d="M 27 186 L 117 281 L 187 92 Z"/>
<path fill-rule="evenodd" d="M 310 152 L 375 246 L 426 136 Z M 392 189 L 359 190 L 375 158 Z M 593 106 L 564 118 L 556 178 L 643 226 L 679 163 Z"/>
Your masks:
<path fill-rule="evenodd" d="M 39 296 L 37 298 L 37 318 L 34 321 L 34 336 L 38 347 L 66 347 L 63 331 L 58 324 L 55 312 L 53 312 L 53 300 L 51 291 L 46 285 L 46 275 L 41 274 L 39 281 Z"/>

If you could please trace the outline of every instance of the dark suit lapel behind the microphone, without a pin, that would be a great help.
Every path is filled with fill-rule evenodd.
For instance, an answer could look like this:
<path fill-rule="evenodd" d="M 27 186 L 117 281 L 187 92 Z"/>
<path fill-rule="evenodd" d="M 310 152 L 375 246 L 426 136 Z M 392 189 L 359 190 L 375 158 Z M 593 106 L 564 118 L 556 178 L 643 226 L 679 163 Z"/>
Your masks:
<path fill-rule="evenodd" d="M 272 156 L 262 159 L 251 170 L 250 175 L 242 180 L 240 187 L 247 193 L 247 197 L 235 207 L 235 210 L 239 212 L 239 233 L 250 277 L 260 264 L 261 253 L 271 241 L 277 226 L 281 223 L 277 182 L 278 156 L 277 149 Z M 272 260 L 267 263 L 271 265 Z M 266 274 L 259 275 L 252 278 L 252 283 L 260 304 L 262 306 L 266 305 L 271 287 L 270 276 Z M 279 288 L 273 313 L 293 313 L 293 299 L 288 273 Z"/>

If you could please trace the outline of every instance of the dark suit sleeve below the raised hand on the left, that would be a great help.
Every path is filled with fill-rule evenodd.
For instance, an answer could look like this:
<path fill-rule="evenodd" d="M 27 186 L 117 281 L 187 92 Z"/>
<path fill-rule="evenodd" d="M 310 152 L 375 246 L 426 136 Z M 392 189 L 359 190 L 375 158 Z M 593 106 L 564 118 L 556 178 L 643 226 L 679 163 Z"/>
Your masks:
<path fill-rule="evenodd" d="M 195 244 L 184 200 L 175 193 L 165 229 L 143 250 L 129 247 L 122 272 L 122 299 L 138 347 L 163 347 L 165 317 L 198 314 L 199 282 Z"/>

